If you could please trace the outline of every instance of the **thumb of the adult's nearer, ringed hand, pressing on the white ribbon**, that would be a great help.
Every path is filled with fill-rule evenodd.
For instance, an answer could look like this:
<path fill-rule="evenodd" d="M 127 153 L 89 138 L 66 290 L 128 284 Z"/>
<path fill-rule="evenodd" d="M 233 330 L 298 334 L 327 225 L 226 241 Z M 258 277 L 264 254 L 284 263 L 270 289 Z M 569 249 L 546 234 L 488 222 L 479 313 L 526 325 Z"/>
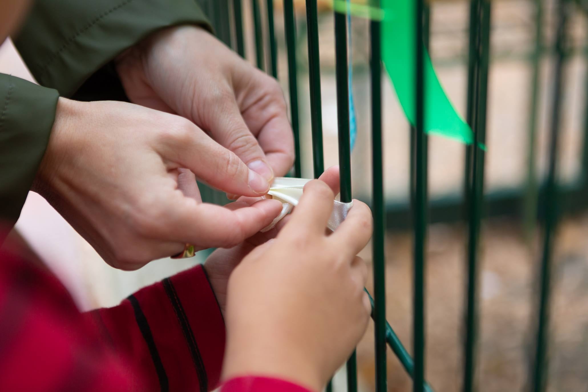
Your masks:
<path fill-rule="evenodd" d="M 223 192 L 255 197 L 269 190 L 264 177 L 189 120 L 181 120 L 178 129 L 166 132 L 166 140 L 158 148 L 162 158 L 186 167 L 198 179 Z"/>

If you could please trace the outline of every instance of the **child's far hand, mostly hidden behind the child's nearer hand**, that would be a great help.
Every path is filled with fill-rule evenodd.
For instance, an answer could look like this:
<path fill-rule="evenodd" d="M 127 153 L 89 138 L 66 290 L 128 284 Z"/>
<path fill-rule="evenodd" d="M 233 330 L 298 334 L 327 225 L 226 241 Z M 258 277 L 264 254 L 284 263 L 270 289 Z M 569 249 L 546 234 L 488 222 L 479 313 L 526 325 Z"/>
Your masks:
<path fill-rule="evenodd" d="M 333 194 L 339 193 L 339 166 L 332 166 L 320 175 L 319 180 L 326 183 L 333 191 Z M 240 197 L 239 202 L 253 203 L 258 198 Z M 278 225 L 273 229 L 264 233 L 256 233 L 249 237 L 244 242 L 229 249 L 216 249 L 208 258 L 204 267 L 209 282 L 211 282 L 212 290 L 215 292 L 216 300 L 218 300 L 220 310 L 225 311 L 226 304 L 226 285 L 229 281 L 230 274 L 236 266 L 247 256 L 256 246 L 268 242 L 275 238 L 282 227 L 290 220 L 292 215 L 283 217 Z"/>

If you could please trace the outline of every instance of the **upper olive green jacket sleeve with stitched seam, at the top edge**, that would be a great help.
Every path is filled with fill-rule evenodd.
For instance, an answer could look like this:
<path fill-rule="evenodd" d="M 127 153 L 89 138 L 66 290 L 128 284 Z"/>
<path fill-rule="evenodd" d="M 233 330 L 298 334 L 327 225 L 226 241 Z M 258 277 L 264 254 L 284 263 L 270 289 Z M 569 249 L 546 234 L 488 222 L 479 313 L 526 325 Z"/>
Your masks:
<path fill-rule="evenodd" d="M 182 24 L 210 29 L 196 0 L 37 0 L 13 39 L 35 79 L 69 97 L 125 49 Z"/>

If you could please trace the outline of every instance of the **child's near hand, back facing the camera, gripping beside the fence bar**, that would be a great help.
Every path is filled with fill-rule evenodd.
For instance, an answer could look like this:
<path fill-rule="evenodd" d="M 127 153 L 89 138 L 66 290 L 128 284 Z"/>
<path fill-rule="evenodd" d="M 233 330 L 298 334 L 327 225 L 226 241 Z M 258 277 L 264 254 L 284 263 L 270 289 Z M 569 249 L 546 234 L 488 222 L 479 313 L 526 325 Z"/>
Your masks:
<path fill-rule="evenodd" d="M 269 376 L 320 391 L 365 333 L 370 303 L 365 262 L 369 207 L 353 200 L 346 220 L 325 232 L 333 192 L 306 184 L 276 239 L 256 247 L 229 278 L 223 379 Z"/>

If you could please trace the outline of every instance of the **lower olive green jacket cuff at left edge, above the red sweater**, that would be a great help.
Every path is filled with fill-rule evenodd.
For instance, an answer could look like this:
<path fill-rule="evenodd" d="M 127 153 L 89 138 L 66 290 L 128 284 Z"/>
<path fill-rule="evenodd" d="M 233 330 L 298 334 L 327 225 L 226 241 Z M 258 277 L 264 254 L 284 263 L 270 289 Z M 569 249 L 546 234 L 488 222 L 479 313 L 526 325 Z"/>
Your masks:
<path fill-rule="evenodd" d="M 0 73 L 2 226 L 14 225 L 21 213 L 49 141 L 58 98 L 54 89 Z"/>

